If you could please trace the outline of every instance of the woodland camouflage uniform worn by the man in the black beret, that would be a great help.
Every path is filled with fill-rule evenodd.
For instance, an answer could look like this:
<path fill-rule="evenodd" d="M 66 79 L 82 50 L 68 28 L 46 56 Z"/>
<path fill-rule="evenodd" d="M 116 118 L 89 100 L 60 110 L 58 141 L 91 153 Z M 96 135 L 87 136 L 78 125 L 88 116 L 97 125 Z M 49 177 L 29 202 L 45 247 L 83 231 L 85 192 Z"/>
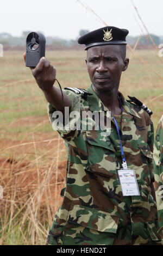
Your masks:
<path fill-rule="evenodd" d="M 92 90 L 77 95 L 68 90 L 71 111 L 108 111 Z M 128 167 L 135 170 L 140 196 L 122 196 L 117 169 L 122 168 L 121 148 L 114 121 L 111 134 L 101 130 L 59 131 L 68 153 L 64 196 L 51 230 L 51 245 L 153 245 L 157 209 L 151 195 L 154 180 L 152 121 L 143 109 L 129 103 L 118 92 L 123 106 L 121 140 Z M 48 105 L 49 119 L 55 111 Z M 70 118 L 70 123 L 73 118 Z M 87 123 L 90 121 L 87 118 Z"/>

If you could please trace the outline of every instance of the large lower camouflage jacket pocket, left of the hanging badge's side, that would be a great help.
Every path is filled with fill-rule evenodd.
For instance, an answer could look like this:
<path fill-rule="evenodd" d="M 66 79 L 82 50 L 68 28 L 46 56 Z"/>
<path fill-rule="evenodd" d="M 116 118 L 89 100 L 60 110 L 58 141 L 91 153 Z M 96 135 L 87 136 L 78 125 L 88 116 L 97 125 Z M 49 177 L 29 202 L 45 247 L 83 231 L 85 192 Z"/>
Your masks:
<path fill-rule="evenodd" d="M 63 245 L 112 245 L 118 221 L 109 212 L 74 205 L 68 213 Z"/>

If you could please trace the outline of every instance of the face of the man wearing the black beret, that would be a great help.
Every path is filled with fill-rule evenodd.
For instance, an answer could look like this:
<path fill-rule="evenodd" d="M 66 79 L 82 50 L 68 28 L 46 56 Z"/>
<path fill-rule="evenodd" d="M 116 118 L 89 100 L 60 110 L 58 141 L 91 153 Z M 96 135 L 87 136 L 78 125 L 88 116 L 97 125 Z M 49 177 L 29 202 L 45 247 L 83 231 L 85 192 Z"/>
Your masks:
<path fill-rule="evenodd" d="M 122 71 L 129 59 L 123 59 L 119 45 L 94 46 L 87 50 L 87 71 L 96 92 L 116 92 Z"/>

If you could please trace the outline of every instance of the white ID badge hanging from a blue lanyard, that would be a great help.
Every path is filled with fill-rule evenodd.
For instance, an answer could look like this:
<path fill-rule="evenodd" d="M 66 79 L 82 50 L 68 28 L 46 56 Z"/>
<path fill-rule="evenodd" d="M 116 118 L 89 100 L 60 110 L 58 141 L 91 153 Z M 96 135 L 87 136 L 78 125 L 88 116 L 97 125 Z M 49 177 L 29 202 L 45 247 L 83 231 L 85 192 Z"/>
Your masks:
<path fill-rule="evenodd" d="M 135 170 L 120 169 L 118 170 L 118 176 L 120 178 L 123 196 L 140 196 Z"/>

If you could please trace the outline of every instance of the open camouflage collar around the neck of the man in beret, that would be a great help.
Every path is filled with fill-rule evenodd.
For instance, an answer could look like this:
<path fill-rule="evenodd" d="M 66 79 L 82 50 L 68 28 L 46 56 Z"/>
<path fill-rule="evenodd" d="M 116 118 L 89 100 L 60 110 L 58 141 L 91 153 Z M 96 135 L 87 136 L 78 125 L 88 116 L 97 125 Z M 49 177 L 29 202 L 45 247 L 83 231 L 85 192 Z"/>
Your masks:
<path fill-rule="evenodd" d="M 92 84 L 86 90 L 87 90 L 87 92 L 92 94 L 92 95 L 87 96 L 87 99 L 89 101 L 90 110 L 92 112 L 93 111 L 101 112 L 101 111 L 109 110 L 107 107 L 104 106 L 101 99 L 99 99 L 97 94 L 93 91 Z M 118 92 L 118 96 L 120 97 L 122 107 L 123 107 L 122 114 L 125 114 L 126 118 L 131 119 L 131 118 L 133 118 L 133 116 L 135 116 L 137 118 L 141 118 L 140 115 L 135 111 L 134 107 L 132 107 L 131 104 L 129 102 L 127 102 L 127 100 L 124 98 L 124 96 L 121 92 Z M 128 115 L 128 117 L 127 117 L 127 115 Z M 129 117 L 129 115 L 130 115 L 130 117 Z"/>

